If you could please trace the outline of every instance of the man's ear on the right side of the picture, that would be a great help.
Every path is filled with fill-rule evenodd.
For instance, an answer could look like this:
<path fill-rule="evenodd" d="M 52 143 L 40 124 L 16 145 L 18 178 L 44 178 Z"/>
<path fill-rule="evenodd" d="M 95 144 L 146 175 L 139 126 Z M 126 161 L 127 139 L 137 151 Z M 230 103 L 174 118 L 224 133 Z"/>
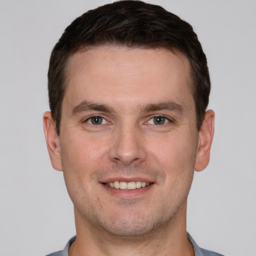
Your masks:
<path fill-rule="evenodd" d="M 210 146 L 214 134 L 214 112 L 207 110 L 198 133 L 197 153 L 195 160 L 196 171 L 203 170 L 209 163 Z"/>

